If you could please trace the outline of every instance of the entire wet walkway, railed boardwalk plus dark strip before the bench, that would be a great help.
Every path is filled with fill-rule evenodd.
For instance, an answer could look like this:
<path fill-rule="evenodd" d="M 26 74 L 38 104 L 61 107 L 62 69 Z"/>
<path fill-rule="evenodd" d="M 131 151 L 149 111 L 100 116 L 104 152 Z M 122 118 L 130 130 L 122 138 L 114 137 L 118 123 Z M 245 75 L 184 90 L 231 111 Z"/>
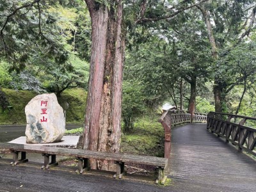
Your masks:
<path fill-rule="evenodd" d="M 206 131 L 205 124 L 172 130 L 170 186 L 156 186 L 74 170 L 40 170 L 38 164 L 10 166 L 0 159 L 2 191 L 256 191 L 256 163 Z M 29 164 L 29 165 L 28 165 Z M 29 166 L 29 167 L 28 167 Z M 55 168 L 55 169 L 57 169 Z"/>

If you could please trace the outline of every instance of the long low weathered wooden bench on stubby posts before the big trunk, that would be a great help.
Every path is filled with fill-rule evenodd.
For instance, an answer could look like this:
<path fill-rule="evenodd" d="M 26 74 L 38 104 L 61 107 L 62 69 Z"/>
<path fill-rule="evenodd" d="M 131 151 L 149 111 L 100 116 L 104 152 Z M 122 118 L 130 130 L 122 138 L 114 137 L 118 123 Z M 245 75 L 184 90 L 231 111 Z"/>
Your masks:
<path fill-rule="evenodd" d="M 56 156 L 70 156 L 76 157 L 78 160 L 79 168 L 77 170 L 77 173 L 83 173 L 86 170 L 90 170 L 88 159 L 94 158 L 114 161 L 116 163 L 116 174 L 114 175 L 114 178 L 122 178 L 122 175 L 124 175 L 125 173 L 125 163 L 136 163 L 156 166 L 156 182 L 161 182 L 161 184 L 164 184 L 164 181 L 166 180 L 166 175 L 164 175 L 164 169 L 167 166 L 168 159 L 162 157 L 137 156 L 132 154 L 98 152 L 78 148 L 21 145 L 14 143 L 0 143 L 0 148 L 8 148 L 12 151 L 13 161 L 11 164 L 13 165 L 28 162 L 28 159 L 26 158 L 26 152 L 39 153 L 44 156 L 44 165 L 42 166 L 42 169 L 48 169 L 51 166 L 57 166 L 58 162 L 56 162 Z M 51 157 L 51 161 L 49 157 Z"/>

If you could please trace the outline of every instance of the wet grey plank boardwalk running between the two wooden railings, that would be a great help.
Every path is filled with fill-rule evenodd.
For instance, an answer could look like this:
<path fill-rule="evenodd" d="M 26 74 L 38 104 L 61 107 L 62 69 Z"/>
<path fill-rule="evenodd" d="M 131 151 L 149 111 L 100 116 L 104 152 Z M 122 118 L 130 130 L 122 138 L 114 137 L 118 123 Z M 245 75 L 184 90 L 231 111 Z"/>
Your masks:
<path fill-rule="evenodd" d="M 173 191 L 256 191 L 256 161 L 206 130 L 206 124 L 172 129 Z"/>

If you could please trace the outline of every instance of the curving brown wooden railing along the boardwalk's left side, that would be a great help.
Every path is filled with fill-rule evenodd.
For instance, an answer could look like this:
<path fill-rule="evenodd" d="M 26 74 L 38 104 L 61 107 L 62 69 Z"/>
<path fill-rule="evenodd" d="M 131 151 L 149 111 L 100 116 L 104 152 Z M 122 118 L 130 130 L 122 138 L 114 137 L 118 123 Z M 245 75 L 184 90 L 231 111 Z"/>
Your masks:
<path fill-rule="evenodd" d="M 171 151 L 171 128 L 176 125 L 186 123 L 206 123 L 207 116 L 205 113 L 194 113 L 191 116 L 187 111 L 168 110 L 163 113 L 159 122 L 164 127 L 164 157 L 170 157 Z"/>

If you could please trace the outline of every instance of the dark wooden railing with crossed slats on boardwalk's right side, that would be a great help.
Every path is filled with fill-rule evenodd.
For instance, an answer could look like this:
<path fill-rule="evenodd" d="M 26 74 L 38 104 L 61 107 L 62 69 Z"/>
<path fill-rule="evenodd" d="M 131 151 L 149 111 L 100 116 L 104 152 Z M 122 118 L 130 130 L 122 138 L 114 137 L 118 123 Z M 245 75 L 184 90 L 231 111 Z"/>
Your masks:
<path fill-rule="evenodd" d="M 207 115 L 207 129 L 225 141 L 256 156 L 256 118 L 228 113 L 210 112 Z"/>

